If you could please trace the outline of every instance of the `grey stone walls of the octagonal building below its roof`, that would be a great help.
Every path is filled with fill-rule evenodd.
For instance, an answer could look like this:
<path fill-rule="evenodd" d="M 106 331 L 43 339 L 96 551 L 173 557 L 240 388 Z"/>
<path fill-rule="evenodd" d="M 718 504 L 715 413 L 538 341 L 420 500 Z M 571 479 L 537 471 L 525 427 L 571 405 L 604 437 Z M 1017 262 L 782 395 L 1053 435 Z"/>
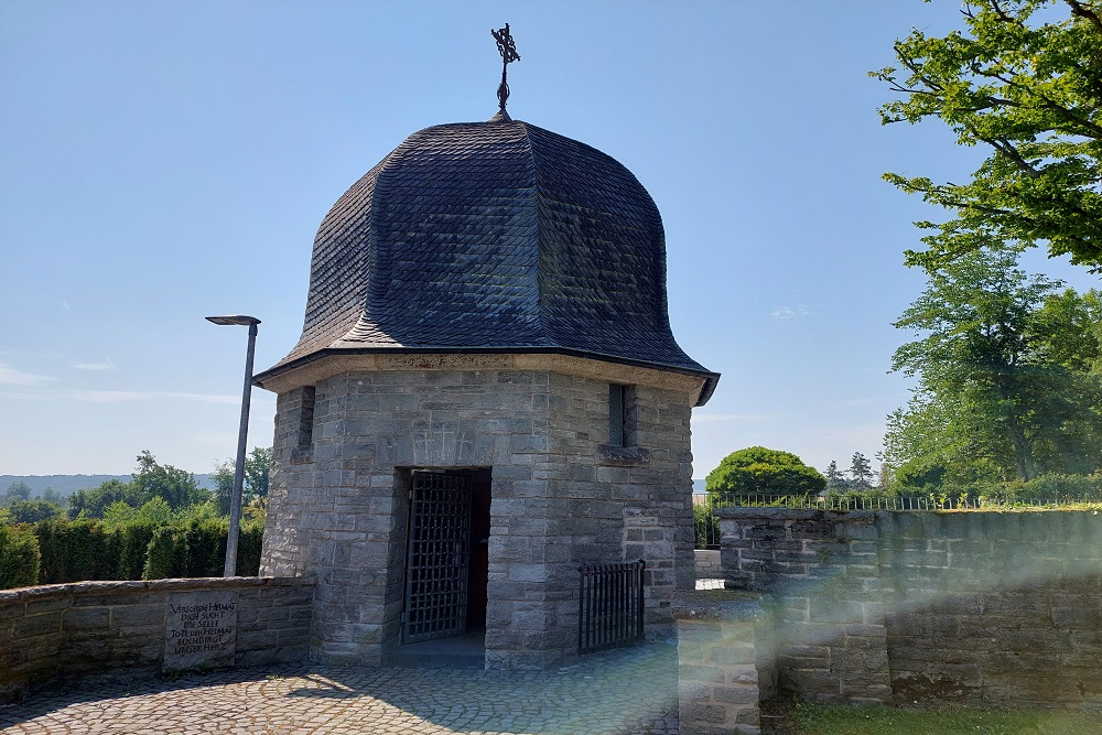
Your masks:
<path fill-rule="evenodd" d="M 608 380 L 361 370 L 314 389 L 305 445 L 302 389 L 279 398 L 261 571 L 316 575 L 321 658 L 380 662 L 397 645 L 410 468 L 491 468 L 488 666 L 576 649 L 585 562 L 645 558 L 648 629 L 671 630 L 678 575 L 693 574 L 688 392 L 639 386 L 636 446 L 617 450 Z"/>

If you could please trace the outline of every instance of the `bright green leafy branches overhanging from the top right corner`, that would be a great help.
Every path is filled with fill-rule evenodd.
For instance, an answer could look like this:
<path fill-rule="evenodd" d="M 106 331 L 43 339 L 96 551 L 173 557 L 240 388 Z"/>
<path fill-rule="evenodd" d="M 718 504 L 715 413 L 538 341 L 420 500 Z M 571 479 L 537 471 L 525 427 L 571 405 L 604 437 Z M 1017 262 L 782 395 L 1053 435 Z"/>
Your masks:
<path fill-rule="evenodd" d="M 936 270 L 993 245 L 1047 244 L 1102 270 L 1102 6 L 976 0 L 963 20 L 944 37 L 912 31 L 895 43 L 898 66 L 871 73 L 901 95 L 880 108 L 885 125 L 940 119 L 959 144 L 991 151 L 964 184 L 885 174 L 954 217 L 917 223 L 928 249 L 908 261 Z"/>

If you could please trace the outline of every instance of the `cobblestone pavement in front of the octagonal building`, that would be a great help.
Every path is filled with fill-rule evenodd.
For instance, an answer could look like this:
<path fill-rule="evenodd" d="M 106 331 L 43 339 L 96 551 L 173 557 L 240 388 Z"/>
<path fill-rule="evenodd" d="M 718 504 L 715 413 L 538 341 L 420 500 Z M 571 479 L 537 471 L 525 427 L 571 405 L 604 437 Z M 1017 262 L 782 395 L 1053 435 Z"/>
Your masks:
<path fill-rule="evenodd" d="M 676 735 L 677 667 L 673 645 L 651 644 L 542 672 L 119 671 L 0 705 L 0 733 Z"/>

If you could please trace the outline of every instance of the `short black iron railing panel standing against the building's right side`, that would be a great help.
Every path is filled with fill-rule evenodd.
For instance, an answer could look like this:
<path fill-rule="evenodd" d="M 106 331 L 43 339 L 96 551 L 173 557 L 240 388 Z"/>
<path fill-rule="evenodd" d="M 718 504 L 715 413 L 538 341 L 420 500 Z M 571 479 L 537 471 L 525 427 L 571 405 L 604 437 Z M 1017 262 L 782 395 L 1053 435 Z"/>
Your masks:
<path fill-rule="evenodd" d="M 644 638 L 646 563 L 583 564 L 577 608 L 577 649 L 592 653 Z"/>

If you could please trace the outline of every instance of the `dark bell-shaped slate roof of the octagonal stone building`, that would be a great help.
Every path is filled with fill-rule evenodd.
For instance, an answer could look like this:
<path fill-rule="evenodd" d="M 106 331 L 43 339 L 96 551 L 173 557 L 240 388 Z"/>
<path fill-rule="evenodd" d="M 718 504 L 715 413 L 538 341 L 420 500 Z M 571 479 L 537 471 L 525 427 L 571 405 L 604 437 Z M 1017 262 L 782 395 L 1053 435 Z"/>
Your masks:
<path fill-rule="evenodd" d="M 670 331 L 662 220 L 601 151 L 498 114 L 413 133 L 314 240 L 302 336 L 343 352 L 553 352 L 710 376 Z"/>

